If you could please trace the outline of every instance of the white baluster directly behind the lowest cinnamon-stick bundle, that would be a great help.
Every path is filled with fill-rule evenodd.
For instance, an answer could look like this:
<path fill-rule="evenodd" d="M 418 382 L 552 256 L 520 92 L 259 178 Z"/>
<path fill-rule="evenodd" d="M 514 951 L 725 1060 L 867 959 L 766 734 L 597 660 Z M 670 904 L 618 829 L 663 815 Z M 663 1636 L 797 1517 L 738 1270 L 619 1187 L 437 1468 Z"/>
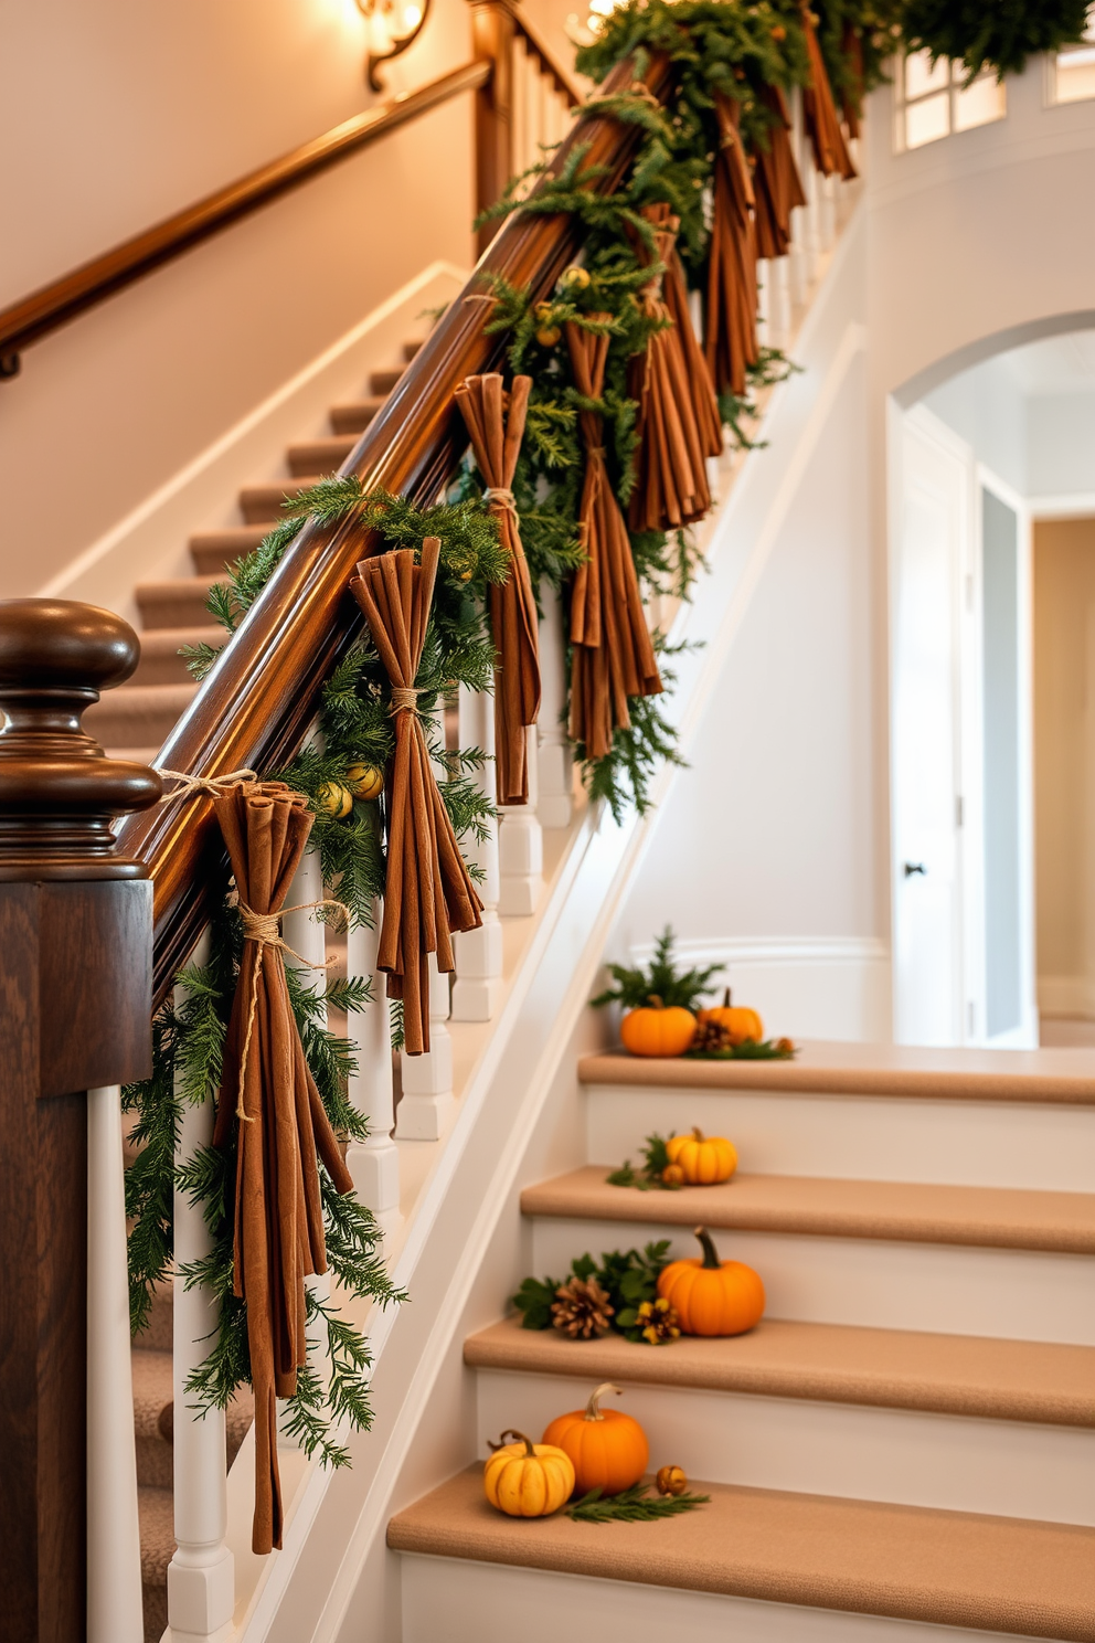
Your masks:
<path fill-rule="evenodd" d="M 194 953 L 197 963 L 208 956 L 202 937 Z M 176 987 L 176 1004 L 186 992 Z M 213 1102 L 184 1102 L 179 1124 L 176 1165 L 207 1147 L 213 1135 Z M 200 1204 L 176 1188 L 176 1267 L 208 1255 L 210 1234 Z M 222 1643 L 231 1635 L 235 1605 L 235 1561 L 225 1535 L 228 1528 L 225 1416 L 222 1410 L 192 1408 L 186 1390 L 190 1374 L 208 1357 L 210 1334 L 217 1329 L 217 1303 L 204 1286 L 186 1290 L 174 1280 L 174 1520 L 176 1553 L 167 1564 L 167 1622 L 172 1643 L 189 1638 Z"/>

